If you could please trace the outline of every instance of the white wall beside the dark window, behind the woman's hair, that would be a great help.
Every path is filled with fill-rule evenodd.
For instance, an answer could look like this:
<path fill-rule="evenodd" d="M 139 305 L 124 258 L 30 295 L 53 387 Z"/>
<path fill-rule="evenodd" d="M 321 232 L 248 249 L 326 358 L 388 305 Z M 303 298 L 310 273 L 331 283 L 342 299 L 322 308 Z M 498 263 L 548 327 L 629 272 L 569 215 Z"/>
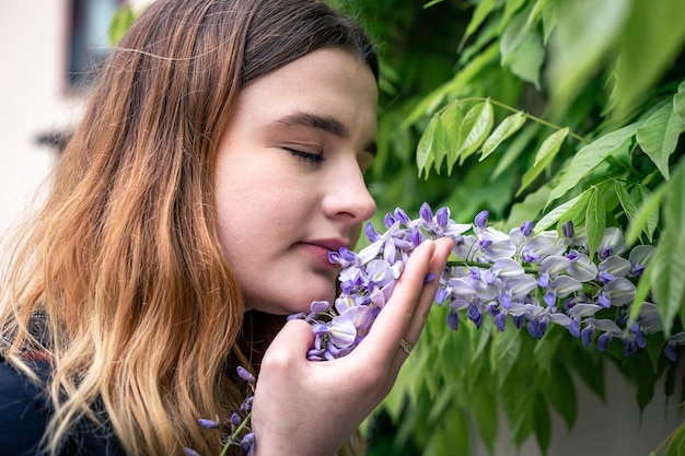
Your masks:
<path fill-rule="evenodd" d="M 53 166 L 54 151 L 36 137 L 74 116 L 63 77 L 67 20 L 66 0 L 0 2 L 0 233 Z"/>

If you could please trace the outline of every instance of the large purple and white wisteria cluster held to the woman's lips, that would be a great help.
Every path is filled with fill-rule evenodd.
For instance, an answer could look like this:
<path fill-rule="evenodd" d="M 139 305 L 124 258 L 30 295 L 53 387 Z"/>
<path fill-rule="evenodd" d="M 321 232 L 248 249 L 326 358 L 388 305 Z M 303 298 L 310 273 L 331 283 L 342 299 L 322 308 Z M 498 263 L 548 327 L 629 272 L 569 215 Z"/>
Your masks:
<path fill-rule="evenodd" d="M 489 316 L 501 331 L 511 320 L 542 339 L 549 325 L 556 324 L 585 347 L 596 334 L 601 352 L 609 341 L 620 340 L 625 355 L 645 348 L 647 335 L 663 330 L 657 307 L 649 302 L 626 326 L 635 282 L 654 247 L 638 245 L 628 250 L 617 227 L 605 230 L 591 257 L 587 238 L 574 232 L 571 222 L 562 226 L 561 235 L 557 231 L 534 233 L 532 222 L 504 233 L 487 226 L 487 211 L 471 224 L 455 223 L 449 208 L 433 214 L 428 203 L 421 206 L 419 215 L 411 220 L 398 208 L 386 214 L 384 233 L 367 224 L 368 247 L 329 254 L 330 261 L 342 268 L 339 296 L 333 304 L 317 301 L 310 313 L 291 316 L 312 325 L 315 343 L 310 360 L 332 360 L 352 351 L 390 299 L 411 252 L 425 239 L 443 236 L 454 241 L 456 260 L 439 278 L 436 302 L 449 308 L 446 321 L 454 330 L 460 325 L 458 311 L 466 309 L 477 328 Z M 615 312 L 602 312 L 608 308 Z M 684 343 L 685 332 L 672 335 L 665 355 L 675 361 L 675 346 Z"/>

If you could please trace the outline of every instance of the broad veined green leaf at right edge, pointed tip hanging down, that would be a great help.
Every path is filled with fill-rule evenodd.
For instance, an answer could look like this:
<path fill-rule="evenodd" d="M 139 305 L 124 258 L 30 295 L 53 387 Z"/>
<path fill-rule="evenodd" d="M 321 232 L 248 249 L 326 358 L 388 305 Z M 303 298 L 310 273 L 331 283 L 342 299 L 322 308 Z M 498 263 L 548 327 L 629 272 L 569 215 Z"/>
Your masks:
<path fill-rule="evenodd" d="M 637 131 L 638 144 L 666 180 L 669 180 L 669 157 L 675 151 L 677 139 L 683 131 L 685 124 L 673 112 L 673 103 L 666 103 L 652 113 Z"/>

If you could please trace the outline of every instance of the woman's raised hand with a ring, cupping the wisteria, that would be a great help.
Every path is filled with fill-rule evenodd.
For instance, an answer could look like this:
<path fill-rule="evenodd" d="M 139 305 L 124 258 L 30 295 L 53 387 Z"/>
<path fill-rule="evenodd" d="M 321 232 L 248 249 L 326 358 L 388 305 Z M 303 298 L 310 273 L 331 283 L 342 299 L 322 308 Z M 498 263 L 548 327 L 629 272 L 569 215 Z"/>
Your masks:
<path fill-rule="evenodd" d="M 252 429 L 259 456 L 334 455 L 390 393 L 407 359 L 399 341 L 416 343 L 453 243 L 426 241 L 411 254 L 369 335 L 348 355 L 309 361 L 314 336 L 300 319 L 286 324 L 262 362 Z"/>

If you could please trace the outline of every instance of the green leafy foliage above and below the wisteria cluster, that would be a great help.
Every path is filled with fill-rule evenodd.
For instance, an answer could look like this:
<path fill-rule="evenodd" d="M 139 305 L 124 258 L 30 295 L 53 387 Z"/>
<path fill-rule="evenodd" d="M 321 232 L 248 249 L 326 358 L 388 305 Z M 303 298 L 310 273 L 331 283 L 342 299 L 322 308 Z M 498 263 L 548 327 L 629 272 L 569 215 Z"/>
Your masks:
<path fill-rule="evenodd" d="M 371 171 L 379 213 L 427 200 L 461 222 L 488 209 L 502 229 L 533 220 L 536 230 L 561 231 L 572 221 L 591 249 L 606 226 L 618 226 L 628 244 L 657 246 L 632 318 L 651 302 L 666 335 L 682 330 L 685 15 L 676 3 L 346 2 L 362 11 L 385 63 Z M 468 454 L 472 431 L 492 451 L 499 413 L 514 444 L 534 435 L 545 453 L 550 410 L 574 423 L 571 378 L 604 397 L 604 369 L 615 363 L 643 408 L 657 382 L 677 371 L 660 349 L 600 354 L 558 328 L 535 341 L 485 321 L 479 331 L 464 324 L 446 334 L 444 317 L 430 315 L 384 402 L 397 425 L 383 441 L 393 454 Z M 666 381 L 664 394 L 673 393 Z M 680 428 L 655 452 L 676 455 L 683 442 Z"/>

